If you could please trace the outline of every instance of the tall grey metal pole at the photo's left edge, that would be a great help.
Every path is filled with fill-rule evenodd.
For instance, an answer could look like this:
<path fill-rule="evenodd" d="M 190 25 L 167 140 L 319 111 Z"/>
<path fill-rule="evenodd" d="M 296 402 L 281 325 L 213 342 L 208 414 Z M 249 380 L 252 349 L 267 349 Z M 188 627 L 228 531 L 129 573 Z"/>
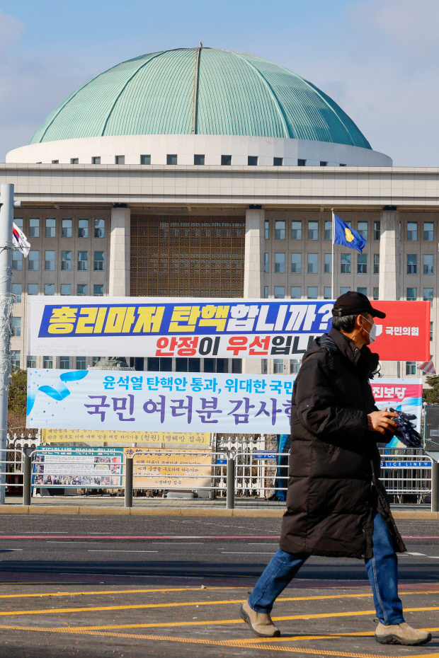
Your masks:
<path fill-rule="evenodd" d="M 0 454 L 1 461 L 6 462 L 8 389 L 11 374 L 13 185 L 0 185 L 0 204 Z M 5 484 L 6 463 L 1 463 L 0 504 L 4 504 Z"/>

